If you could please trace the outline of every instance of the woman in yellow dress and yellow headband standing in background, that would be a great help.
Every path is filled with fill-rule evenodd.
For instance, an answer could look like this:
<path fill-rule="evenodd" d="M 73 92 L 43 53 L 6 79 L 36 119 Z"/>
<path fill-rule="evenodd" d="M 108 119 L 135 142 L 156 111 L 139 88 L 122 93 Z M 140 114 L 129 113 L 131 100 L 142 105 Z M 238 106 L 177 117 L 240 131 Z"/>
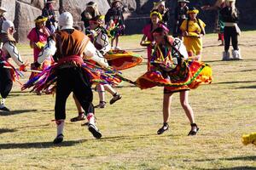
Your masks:
<path fill-rule="evenodd" d="M 189 8 L 189 18 L 183 21 L 180 29 L 183 31 L 183 42 L 189 57 L 201 61 L 202 37 L 206 34 L 206 24 L 197 18 L 198 13 L 199 10 L 196 8 Z"/>

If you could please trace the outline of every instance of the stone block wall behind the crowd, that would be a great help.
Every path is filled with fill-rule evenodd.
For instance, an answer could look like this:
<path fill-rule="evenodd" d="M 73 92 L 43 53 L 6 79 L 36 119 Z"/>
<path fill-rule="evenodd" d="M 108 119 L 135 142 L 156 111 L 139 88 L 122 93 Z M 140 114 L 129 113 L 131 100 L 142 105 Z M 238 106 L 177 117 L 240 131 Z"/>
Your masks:
<path fill-rule="evenodd" d="M 69 11 L 73 14 L 75 25 L 83 26 L 80 21 L 80 14 L 84 10 L 86 3 L 91 0 L 56 0 L 56 15 L 62 11 Z M 110 3 L 113 0 L 94 0 L 102 14 L 106 14 Z M 153 8 L 153 3 L 158 0 L 123 0 L 125 5 L 125 25 L 126 34 L 141 33 L 143 26 L 148 23 L 149 11 Z M 213 4 L 215 0 L 190 0 L 190 4 L 201 7 L 204 4 Z M 167 7 L 171 9 L 171 19 L 173 18 L 173 10 L 177 5 L 176 0 L 166 0 Z M 6 18 L 14 20 L 17 29 L 16 39 L 20 42 L 26 41 L 28 31 L 34 26 L 33 20 L 41 14 L 44 8 L 44 0 L 0 0 L 2 7 L 8 9 Z M 240 26 L 256 26 L 256 3 L 255 0 L 236 0 L 236 6 L 241 12 Z M 212 31 L 216 12 L 201 11 L 200 18 L 207 24 L 207 30 Z M 169 22 L 172 30 L 173 19 Z"/>

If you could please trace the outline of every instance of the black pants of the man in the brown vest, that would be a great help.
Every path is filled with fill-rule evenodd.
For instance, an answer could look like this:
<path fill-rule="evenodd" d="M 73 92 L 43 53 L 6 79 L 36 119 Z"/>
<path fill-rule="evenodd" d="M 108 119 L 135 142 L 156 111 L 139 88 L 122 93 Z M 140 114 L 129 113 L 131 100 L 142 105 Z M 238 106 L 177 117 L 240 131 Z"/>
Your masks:
<path fill-rule="evenodd" d="M 55 120 L 66 119 L 66 102 L 71 92 L 82 105 L 85 114 L 94 113 L 93 94 L 89 75 L 79 67 L 59 69 L 57 71 Z"/>

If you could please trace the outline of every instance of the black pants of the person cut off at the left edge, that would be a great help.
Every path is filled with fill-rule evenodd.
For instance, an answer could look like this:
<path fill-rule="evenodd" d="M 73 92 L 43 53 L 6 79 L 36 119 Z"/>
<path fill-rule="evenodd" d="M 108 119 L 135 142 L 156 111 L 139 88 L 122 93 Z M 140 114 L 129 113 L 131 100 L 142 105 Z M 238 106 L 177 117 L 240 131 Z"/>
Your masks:
<path fill-rule="evenodd" d="M 7 98 L 12 88 L 11 72 L 9 69 L 3 68 L 3 64 L 0 63 L 0 94 L 2 98 Z"/>

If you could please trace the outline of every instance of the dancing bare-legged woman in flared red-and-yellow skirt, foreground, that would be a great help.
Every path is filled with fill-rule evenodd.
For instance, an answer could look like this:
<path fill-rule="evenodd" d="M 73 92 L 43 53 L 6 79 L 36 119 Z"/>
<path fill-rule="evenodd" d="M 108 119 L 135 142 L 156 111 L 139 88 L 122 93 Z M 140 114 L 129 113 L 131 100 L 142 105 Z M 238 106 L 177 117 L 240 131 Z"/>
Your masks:
<path fill-rule="evenodd" d="M 188 54 L 183 42 L 178 38 L 167 36 L 163 28 L 153 31 L 156 42 L 151 60 L 151 70 L 137 79 L 137 86 L 142 89 L 163 86 L 163 126 L 157 131 L 164 133 L 169 128 L 172 96 L 180 95 L 180 103 L 189 118 L 191 130 L 189 135 L 195 135 L 199 128 L 195 124 L 194 111 L 189 105 L 189 89 L 197 88 L 201 83 L 212 82 L 212 70 L 207 65 L 188 60 Z"/>

